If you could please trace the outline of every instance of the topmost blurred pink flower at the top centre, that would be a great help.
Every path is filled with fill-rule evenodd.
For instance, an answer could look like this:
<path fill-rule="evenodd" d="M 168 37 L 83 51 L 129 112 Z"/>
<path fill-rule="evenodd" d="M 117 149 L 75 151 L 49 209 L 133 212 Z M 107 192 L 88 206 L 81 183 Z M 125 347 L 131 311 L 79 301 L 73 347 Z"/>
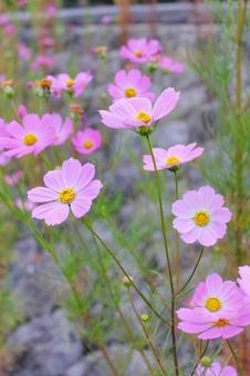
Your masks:
<path fill-rule="evenodd" d="M 119 55 L 133 63 L 146 63 L 157 55 L 160 50 L 162 46 L 158 40 L 129 39 L 127 44 L 121 48 Z"/>

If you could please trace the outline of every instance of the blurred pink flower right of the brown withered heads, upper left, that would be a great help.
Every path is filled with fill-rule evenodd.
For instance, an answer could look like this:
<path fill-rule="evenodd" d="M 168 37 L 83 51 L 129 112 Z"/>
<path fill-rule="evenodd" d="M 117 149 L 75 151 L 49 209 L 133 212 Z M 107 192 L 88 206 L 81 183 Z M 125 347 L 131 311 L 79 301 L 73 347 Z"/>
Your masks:
<path fill-rule="evenodd" d="M 80 72 L 74 79 L 70 77 L 67 73 L 61 73 L 56 76 L 61 90 L 72 92 L 74 97 L 79 97 L 83 93 L 92 79 L 91 72 Z"/>

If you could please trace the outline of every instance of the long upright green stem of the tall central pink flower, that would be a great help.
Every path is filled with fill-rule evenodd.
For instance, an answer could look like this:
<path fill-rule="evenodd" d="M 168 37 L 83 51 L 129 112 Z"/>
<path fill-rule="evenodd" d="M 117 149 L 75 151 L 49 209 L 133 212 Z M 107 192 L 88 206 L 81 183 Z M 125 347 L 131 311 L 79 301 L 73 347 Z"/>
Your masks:
<path fill-rule="evenodd" d="M 160 216 L 160 223 L 162 223 L 162 232 L 163 232 L 163 239 L 164 239 L 164 246 L 165 246 L 165 253 L 167 259 L 167 269 L 168 269 L 168 275 L 169 275 L 169 285 L 170 285 L 170 293 L 171 293 L 171 342 L 173 342 L 173 361 L 175 366 L 175 375 L 179 375 L 179 367 L 178 367 L 178 356 L 177 356 L 177 343 L 176 343 L 176 330 L 175 330 L 175 288 L 174 288 L 174 279 L 173 279 L 173 272 L 171 272 L 171 264 L 170 264 L 170 258 L 169 258 L 169 251 L 168 251 L 168 244 L 167 244 L 167 229 L 166 229 L 166 222 L 165 222 L 165 216 L 164 216 L 164 209 L 163 209 L 163 197 L 162 197 L 162 190 L 160 190 L 160 182 L 159 182 L 159 175 L 156 167 L 155 156 L 153 153 L 149 135 L 146 134 L 147 145 L 148 149 L 150 152 L 152 160 L 155 168 L 155 181 L 157 187 L 157 194 L 158 194 L 158 203 L 159 203 L 159 216 Z"/>

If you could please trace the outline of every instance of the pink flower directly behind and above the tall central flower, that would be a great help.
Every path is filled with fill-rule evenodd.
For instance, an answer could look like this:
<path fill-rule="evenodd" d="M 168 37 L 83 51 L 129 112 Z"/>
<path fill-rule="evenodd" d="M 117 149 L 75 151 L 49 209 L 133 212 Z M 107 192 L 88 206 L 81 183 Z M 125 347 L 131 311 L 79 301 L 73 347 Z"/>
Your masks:
<path fill-rule="evenodd" d="M 153 101 L 155 94 L 148 92 L 152 81 L 138 70 L 119 71 L 115 75 L 115 84 L 108 85 L 108 93 L 114 101 L 144 96 Z"/>

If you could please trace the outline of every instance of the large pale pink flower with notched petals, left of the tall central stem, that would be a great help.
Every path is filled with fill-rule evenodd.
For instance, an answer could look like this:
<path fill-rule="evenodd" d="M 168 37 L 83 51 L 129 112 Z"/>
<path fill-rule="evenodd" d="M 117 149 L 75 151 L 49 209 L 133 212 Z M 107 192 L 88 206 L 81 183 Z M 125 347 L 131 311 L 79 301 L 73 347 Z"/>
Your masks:
<path fill-rule="evenodd" d="M 28 191 L 30 201 L 41 203 L 32 210 L 32 218 L 55 226 L 65 221 L 70 211 L 76 218 L 83 217 L 103 186 L 100 180 L 93 180 L 94 175 L 94 165 L 82 165 L 74 158 L 65 160 L 61 168 L 49 171 L 43 178 L 45 187 Z"/>

